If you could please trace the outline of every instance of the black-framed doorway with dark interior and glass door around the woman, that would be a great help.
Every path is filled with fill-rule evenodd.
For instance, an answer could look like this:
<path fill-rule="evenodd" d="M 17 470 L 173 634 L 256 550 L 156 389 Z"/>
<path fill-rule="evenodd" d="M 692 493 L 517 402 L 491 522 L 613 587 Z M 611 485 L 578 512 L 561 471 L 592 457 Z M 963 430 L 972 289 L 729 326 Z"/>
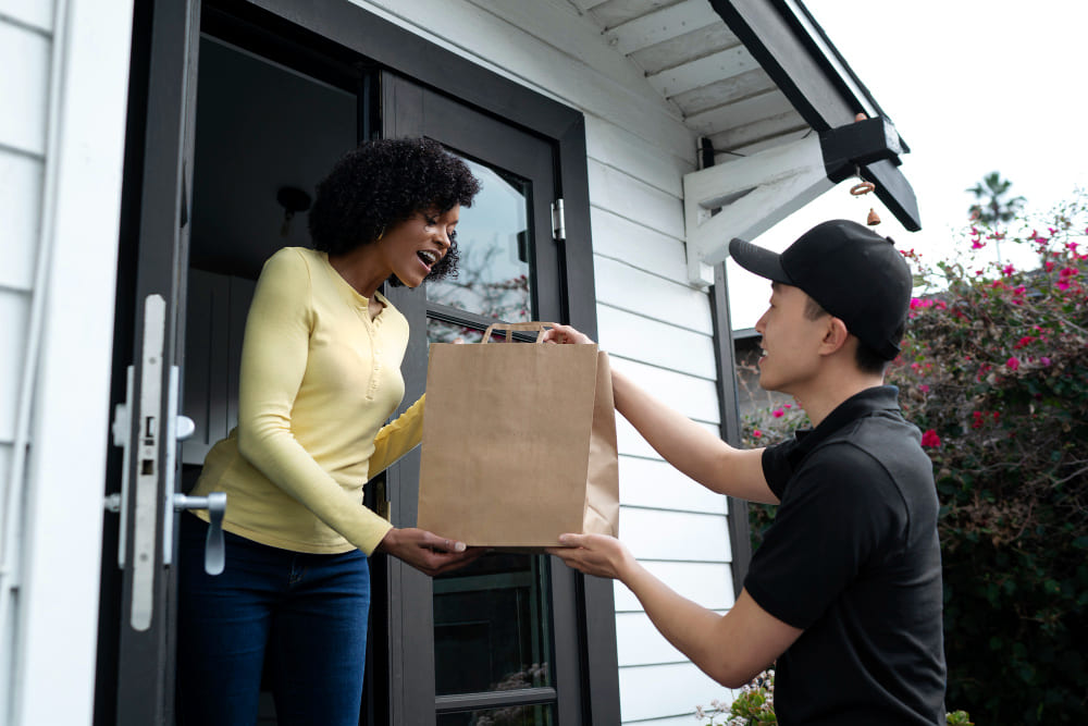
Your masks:
<path fill-rule="evenodd" d="M 178 174 L 183 187 L 185 180 L 191 183 L 191 202 L 183 190 L 181 218 L 187 236 L 183 235 L 173 256 L 177 268 L 165 275 L 181 281 L 174 313 L 183 353 L 177 362 L 178 413 L 196 423 L 196 432 L 177 456 L 181 491 L 191 487 L 207 451 L 235 424 L 242 334 L 264 260 L 284 246 L 309 246 L 307 197 L 312 198 L 316 183 L 333 162 L 360 140 L 434 138 L 461 156 L 483 187 L 478 202 L 461 216 L 463 276 L 426 290 L 385 291 L 412 330 L 403 366 L 405 406 L 422 393 L 431 341 L 452 335 L 479 340 L 480 332 L 495 320 L 573 321 L 592 331 L 592 325 L 579 321 L 592 316 L 592 306 L 588 309 L 584 302 L 586 294 L 592 300 L 592 285 L 571 285 L 571 280 L 583 281 L 592 274 L 588 236 L 572 255 L 552 230 L 552 206 L 561 180 L 579 182 L 576 188 L 584 195 L 580 116 L 557 113 L 551 101 L 534 96 L 531 102 L 517 104 L 517 112 L 543 119 L 555 126 L 553 133 L 581 143 L 534 133 L 524 123 L 394 72 L 386 64 L 388 58 L 382 63 L 329 40 L 313 28 L 354 22 L 374 32 L 380 23 L 347 2 L 332 2 L 327 9 L 336 12 L 293 14 L 294 22 L 309 21 L 309 28 L 228 2 L 198 7 L 195 13 L 202 14 L 202 20 L 199 35 L 190 42 L 195 52 L 186 60 L 189 89 L 185 93 L 196 111 L 191 131 L 182 135 L 188 140 L 181 145 Z M 178 33 L 190 32 L 183 30 L 181 23 L 174 25 Z M 400 30 L 382 30 L 380 37 L 392 39 L 374 49 L 379 56 L 399 48 L 404 40 Z M 420 58 L 404 52 L 405 64 Z M 438 52 L 426 54 L 429 62 L 450 66 Z M 482 70 L 472 73 L 492 81 Z M 511 86 L 497 97 L 508 99 L 520 93 Z M 540 108 L 533 108 L 534 103 Z M 186 150 L 186 145 L 191 148 Z M 162 151 L 170 157 L 170 148 Z M 178 147 L 173 152 L 177 155 Z M 190 167 L 184 163 L 187 158 Z M 580 168 L 581 175 L 564 172 L 568 165 L 576 172 Z M 145 190 L 145 207 L 146 195 Z M 584 198 L 577 213 L 588 229 Z M 162 256 L 161 242 L 150 236 L 134 233 L 131 244 L 134 257 Z M 481 296 L 480 291 L 486 293 Z M 418 453 L 368 484 L 368 503 L 375 510 L 387 507 L 395 525 L 412 526 L 417 475 Z M 601 710 L 602 703 L 615 707 L 601 697 L 609 692 L 607 685 L 615 687 L 615 666 L 597 674 L 606 687 L 597 690 L 594 704 L 588 700 L 591 665 L 602 657 L 602 649 L 589 642 L 614 627 L 610 588 L 601 611 L 590 613 L 605 627 L 588 636 L 586 592 L 591 588 L 546 556 L 493 555 L 434 580 L 384 556 L 375 556 L 371 564 L 362 723 L 453 726 L 485 723 L 489 716 L 502 714 L 533 726 L 574 725 L 592 721 L 586 714 Z M 168 585 L 158 595 L 161 611 L 173 606 L 173 576 L 166 565 Z M 111 605 L 107 594 L 103 619 L 116 617 L 110 614 L 111 606 L 118 604 Z M 112 627 L 115 631 L 116 625 Z M 103 633 L 108 632 L 110 628 L 103 627 Z M 126 648 L 122 640 L 116 660 L 127 664 L 128 673 L 149 672 L 161 684 L 157 698 L 165 703 L 148 705 L 145 713 L 165 715 L 126 719 L 120 713 L 116 721 L 109 717 L 99 723 L 172 723 L 170 623 L 161 632 L 151 649 Z M 121 672 L 118 664 L 100 666 L 100 681 L 107 684 L 99 689 L 100 699 L 103 693 L 109 698 L 122 691 Z M 262 703 L 261 723 L 274 724 L 274 707 L 267 694 Z M 126 709 L 121 696 L 118 710 Z M 110 710 L 99 709 L 99 713 Z"/>

